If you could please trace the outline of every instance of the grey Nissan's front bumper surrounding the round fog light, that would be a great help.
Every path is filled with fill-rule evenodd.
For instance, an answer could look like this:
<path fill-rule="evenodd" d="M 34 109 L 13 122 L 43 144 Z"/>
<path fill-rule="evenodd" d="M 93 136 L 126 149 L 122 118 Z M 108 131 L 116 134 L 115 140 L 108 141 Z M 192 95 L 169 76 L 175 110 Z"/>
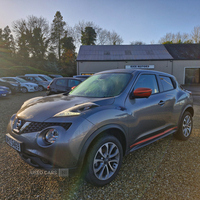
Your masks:
<path fill-rule="evenodd" d="M 47 170 L 57 168 L 74 170 L 79 168 L 77 165 L 83 145 L 82 138 L 88 129 L 93 126 L 87 120 L 80 118 L 67 130 L 61 126 L 50 126 L 45 127 L 42 131 L 18 134 L 12 130 L 12 123 L 13 121 L 11 120 L 7 128 L 6 137 L 13 138 L 20 143 L 21 150 L 19 151 L 15 148 L 20 157 L 33 167 Z M 57 129 L 59 138 L 55 143 L 45 145 L 43 142 L 44 131 L 49 128 Z"/>

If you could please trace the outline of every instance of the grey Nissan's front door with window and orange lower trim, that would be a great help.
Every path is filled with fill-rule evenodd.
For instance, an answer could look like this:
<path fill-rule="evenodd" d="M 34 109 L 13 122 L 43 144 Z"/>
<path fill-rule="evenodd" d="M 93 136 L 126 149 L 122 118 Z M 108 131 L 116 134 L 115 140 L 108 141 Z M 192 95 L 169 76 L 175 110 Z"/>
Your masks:
<path fill-rule="evenodd" d="M 133 90 L 137 88 L 151 88 L 152 94 L 148 98 L 127 98 L 125 102 L 130 114 L 128 117 L 130 148 L 139 148 L 162 136 L 162 133 L 164 135 L 172 127 L 169 123 L 172 105 L 167 100 L 168 96 L 163 93 L 157 75 L 141 73 Z"/>

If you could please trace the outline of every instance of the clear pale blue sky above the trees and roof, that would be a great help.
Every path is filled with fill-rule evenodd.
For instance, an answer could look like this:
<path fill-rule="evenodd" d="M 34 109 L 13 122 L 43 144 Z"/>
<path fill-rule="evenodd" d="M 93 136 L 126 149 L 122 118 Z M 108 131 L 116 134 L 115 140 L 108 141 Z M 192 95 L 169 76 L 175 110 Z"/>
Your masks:
<path fill-rule="evenodd" d="M 12 30 L 13 21 L 29 15 L 51 24 L 56 11 L 72 27 L 84 20 L 114 30 L 123 44 L 158 43 L 166 33 L 190 34 L 200 25 L 199 0 L 0 0 L 0 28 Z"/>

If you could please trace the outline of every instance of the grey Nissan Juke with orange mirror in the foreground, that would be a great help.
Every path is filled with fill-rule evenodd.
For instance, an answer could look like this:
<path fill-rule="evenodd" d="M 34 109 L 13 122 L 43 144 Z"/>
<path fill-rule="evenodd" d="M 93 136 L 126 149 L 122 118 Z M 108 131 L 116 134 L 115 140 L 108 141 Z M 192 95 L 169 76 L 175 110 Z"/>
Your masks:
<path fill-rule="evenodd" d="M 24 102 L 6 141 L 34 167 L 81 169 L 87 181 L 103 186 L 116 177 L 124 155 L 169 134 L 187 140 L 193 115 L 191 94 L 174 76 L 110 70 L 69 94 Z"/>

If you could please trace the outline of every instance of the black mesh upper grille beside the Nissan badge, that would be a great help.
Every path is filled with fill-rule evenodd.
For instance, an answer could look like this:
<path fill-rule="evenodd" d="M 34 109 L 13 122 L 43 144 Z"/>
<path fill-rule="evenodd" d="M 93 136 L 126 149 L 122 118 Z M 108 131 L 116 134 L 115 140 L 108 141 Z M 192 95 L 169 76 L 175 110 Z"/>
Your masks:
<path fill-rule="evenodd" d="M 67 130 L 71 126 L 71 123 L 31 122 L 21 133 L 38 132 L 50 126 L 62 126 Z"/>

